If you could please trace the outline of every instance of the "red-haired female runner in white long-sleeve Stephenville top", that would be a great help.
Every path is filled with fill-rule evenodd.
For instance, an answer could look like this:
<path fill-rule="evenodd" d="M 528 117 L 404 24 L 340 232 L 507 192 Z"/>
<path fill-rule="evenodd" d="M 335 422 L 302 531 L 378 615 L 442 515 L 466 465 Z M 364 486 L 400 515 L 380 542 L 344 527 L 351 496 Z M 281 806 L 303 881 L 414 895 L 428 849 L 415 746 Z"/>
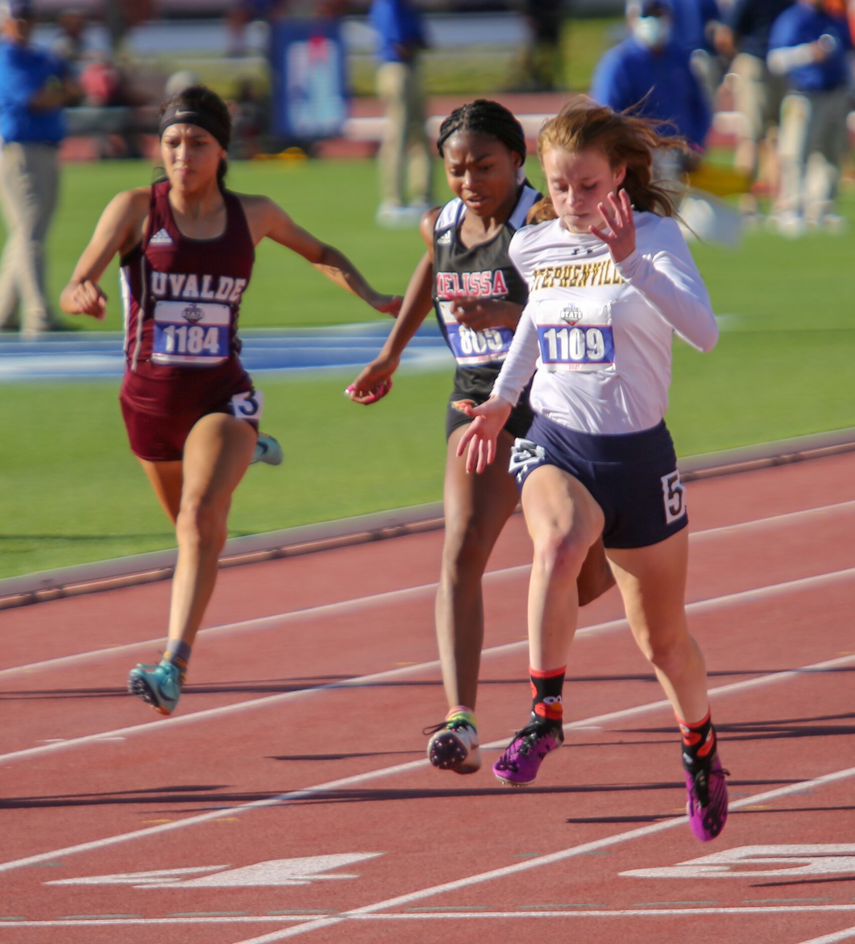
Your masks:
<path fill-rule="evenodd" d="M 688 518 L 662 417 L 673 332 L 707 351 L 718 331 L 674 205 L 650 180 L 653 152 L 674 144 L 588 99 L 544 126 L 538 151 L 557 218 L 511 241 L 528 305 L 493 395 L 471 410 L 475 422 L 459 448 L 468 449 L 470 471 L 492 462 L 496 433 L 534 373 L 535 419 L 511 453 L 534 544 L 532 716 L 495 775 L 530 784 L 562 743 L 575 577 L 602 532 L 629 625 L 678 718 L 692 830 L 708 840 L 727 818 L 727 787 L 706 667 L 686 625 Z"/>

